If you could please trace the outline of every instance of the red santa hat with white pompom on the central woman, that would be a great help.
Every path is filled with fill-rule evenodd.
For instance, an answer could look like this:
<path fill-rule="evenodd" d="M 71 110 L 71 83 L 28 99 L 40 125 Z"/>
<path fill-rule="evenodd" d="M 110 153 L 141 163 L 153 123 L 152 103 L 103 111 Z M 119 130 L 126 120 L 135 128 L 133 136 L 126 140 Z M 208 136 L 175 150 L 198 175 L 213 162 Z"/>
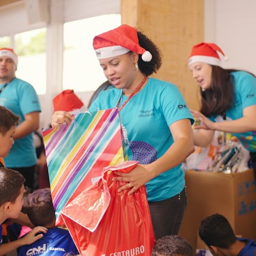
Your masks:
<path fill-rule="evenodd" d="M 99 60 L 122 55 L 129 51 L 142 54 L 143 61 L 152 60 L 150 52 L 140 46 L 137 30 L 126 24 L 95 36 L 93 48 Z"/>

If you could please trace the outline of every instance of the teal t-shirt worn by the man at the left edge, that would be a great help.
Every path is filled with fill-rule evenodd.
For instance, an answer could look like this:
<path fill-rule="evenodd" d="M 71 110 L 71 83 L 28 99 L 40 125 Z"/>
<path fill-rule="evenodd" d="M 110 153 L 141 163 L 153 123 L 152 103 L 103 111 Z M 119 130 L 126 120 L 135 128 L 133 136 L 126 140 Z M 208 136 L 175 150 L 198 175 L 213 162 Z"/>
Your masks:
<path fill-rule="evenodd" d="M 0 90 L 4 84 L 0 84 Z M 20 123 L 24 116 L 34 111 L 41 111 L 38 96 L 31 84 L 21 79 L 13 79 L 3 92 L 0 93 L 0 105 L 20 116 Z M 6 167 L 27 167 L 37 162 L 33 141 L 33 133 L 15 140 L 8 157 L 4 157 Z"/>

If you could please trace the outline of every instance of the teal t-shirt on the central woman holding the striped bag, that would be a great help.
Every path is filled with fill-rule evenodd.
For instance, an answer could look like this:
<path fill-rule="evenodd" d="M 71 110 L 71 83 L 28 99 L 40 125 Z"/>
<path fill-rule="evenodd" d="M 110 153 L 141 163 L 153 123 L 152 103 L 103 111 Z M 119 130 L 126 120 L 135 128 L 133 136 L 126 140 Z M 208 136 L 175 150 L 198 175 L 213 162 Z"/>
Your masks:
<path fill-rule="evenodd" d="M 122 106 L 127 99 L 122 90 L 102 92 L 89 111 L 115 108 L 120 97 Z M 120 111 L 129 160 L 149 164 L 163 156 L 173 144 L 170 125 L 185 118 L 189 118 L 193 124 L 193 116 L 177 86 L 149 78 L 144 88 Z M 184 172 L 181 165 L 178 165 L 146 184 L 148 201 L 160 201 L 175 196 L 182 191 L 184 184 Z"/>

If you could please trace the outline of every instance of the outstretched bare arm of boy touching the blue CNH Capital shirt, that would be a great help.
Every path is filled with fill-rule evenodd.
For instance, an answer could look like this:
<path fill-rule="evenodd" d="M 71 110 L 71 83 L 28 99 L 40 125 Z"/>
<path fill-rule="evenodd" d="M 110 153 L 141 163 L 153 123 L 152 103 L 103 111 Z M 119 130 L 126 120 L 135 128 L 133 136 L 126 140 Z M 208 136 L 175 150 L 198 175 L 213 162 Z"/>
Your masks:
<path fill-rule="evenodd" d="M 8 252 L 12 252 L 12 250 L 15 250 L 25 244 L 34 243 L 35 241 L 37 241 L 38 239 L 40 239 L 44 236 L 43 234 L 38 234 L 40 232 L 46 233 L 47 228 L 35 227 L 28 234 L 26 234 L 26 236 L 21 237 L 20 239 L 17 239 L 10 243 L 0 244 L 0 256 L 5 255 Z"/>

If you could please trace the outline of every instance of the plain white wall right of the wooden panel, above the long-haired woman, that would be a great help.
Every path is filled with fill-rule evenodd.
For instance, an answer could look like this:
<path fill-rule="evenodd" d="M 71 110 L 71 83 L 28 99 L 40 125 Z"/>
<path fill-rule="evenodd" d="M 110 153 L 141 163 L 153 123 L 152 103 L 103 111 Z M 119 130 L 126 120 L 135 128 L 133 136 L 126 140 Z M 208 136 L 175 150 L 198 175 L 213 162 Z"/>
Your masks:
<path fill-rule="evenodd" d="M 204 40 L 228 56 L 223 67 L 256 74 L 256 1 L 205 0 Z"/>

